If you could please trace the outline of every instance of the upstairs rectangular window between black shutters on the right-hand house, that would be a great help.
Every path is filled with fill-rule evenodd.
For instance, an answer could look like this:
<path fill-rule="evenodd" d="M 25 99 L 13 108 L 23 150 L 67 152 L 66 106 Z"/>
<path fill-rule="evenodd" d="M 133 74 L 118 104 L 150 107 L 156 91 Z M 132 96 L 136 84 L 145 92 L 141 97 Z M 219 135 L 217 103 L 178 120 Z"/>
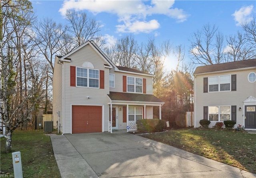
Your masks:
<path fill-rule="evenodd" d="M 209 77 L 209 92 L 230 91 L 230 75 Z"/>

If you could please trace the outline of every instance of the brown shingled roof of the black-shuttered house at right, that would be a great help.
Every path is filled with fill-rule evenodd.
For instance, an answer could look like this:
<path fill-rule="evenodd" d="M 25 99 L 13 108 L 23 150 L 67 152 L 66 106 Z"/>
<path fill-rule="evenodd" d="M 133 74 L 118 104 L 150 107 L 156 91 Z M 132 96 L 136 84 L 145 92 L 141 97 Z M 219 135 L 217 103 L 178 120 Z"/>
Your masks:
<path fill-rule="evenodd" d="M 200 66 L 196 68 L 196 70 L 194 71 L 194 75 L 210 72 L 220 72 L 224 70 L 236 70 L 242 68 L 256 68 L 256 59 Z"/>

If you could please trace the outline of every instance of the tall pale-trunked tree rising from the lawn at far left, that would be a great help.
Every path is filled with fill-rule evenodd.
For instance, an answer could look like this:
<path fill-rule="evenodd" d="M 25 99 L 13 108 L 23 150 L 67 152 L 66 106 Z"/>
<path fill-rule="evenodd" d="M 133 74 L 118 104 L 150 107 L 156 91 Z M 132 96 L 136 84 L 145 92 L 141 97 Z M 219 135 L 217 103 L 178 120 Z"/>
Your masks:
<path fill-rule="evenodd" d="M 1 115 L 6 127 L 6 152 L 12 149 L 12 132 L 31 119 L 40 100 L 43 81 L 30 82 L 26 63 L 31 59 L 30 28 L 31 2 L 4 1 L 1 6 Z M 1 2 L 2 5 L 2 2 Z M 28 40 L 27 40 L 28 38 Z M 24 86 L 25 85 L 25 86 Z"/>

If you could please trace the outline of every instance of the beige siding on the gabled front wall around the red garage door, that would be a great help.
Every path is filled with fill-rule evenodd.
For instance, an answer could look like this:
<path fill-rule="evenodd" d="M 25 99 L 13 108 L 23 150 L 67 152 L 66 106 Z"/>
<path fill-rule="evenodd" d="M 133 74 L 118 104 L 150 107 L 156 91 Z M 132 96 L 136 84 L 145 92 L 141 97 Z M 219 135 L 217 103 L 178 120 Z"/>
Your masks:
<path fill-rule="evenodd" d="M 88 105 L 88 106 L 104 106 L 102 112 L 104 117 L 104 131 L 108 131 L 108 118 L 109 118 L 109 106 L 108 96 L 109 94 L 109 69 L 104 68 L 106 63 L 99 55 L 90 47 L 86 45 L 80 50 L 73 53 L 68 58 L 71 62 L 65 62 L 65 133 L 71 133 L 71 106 L 73 105 Z M 70 66 L 82 67 L 84 62 L 90 62 L 94 65 L 96 70 L 104 70 L 104 89 L 99 88 L 86 88 L 86 87 L 74 87 L 70 86 Z M 90 96 L 90 99 L 86 98 Z"/>

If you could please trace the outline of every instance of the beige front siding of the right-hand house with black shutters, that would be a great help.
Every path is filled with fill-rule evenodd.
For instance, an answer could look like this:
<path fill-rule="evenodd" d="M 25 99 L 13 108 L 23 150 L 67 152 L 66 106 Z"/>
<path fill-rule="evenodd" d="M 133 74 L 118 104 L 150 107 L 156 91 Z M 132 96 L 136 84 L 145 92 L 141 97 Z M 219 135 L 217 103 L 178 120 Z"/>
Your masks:
<path fill-rule="evenodd" d="M 239 70 L 232 72 L 221 72 L 216 74 L 196 75 L 196 127 L 199 127 L 199 121 L 203 119 L 204 106 L 236 106 L 236 125 L 244 125 L 244 103 L 249 96 L 256 97 L 256 82 L 250 83 L 248 81 L 248 74 L 256 72 L 255 69 Z M 236 91 L 223 92 L 203 92 L 203 78 L 210 76 L 231 75 L 236 74 Z M 242 111 L 239 111 L 239 107 Z M 209 127 L 215 125 L 216 122 L 211 122 Z"/>

